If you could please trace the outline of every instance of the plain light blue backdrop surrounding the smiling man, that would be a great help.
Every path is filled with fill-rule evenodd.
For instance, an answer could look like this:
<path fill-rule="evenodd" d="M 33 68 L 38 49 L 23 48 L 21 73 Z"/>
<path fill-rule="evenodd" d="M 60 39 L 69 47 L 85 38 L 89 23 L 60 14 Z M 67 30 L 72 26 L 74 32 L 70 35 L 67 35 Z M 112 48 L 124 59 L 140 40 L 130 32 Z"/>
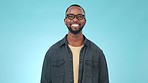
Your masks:
<path fill-rule="evenodd" d="M 39 83 L 73 3 L 86 11 L 83 33 L 104 51 L 110 83 L 148 83 L 148 0 L 0 0 L 0 83 Z"/>

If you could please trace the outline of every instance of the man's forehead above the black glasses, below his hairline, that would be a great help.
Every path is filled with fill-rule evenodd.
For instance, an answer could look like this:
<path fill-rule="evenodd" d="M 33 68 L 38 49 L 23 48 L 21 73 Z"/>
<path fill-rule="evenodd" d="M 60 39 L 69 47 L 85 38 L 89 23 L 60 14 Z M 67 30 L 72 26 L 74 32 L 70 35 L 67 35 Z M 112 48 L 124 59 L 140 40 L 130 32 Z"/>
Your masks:
<path fill-rule="evenodd" d="M 67 14 L 84 14 L 84 11 L 80 7 L 72 6 L 68 9 Z"/>

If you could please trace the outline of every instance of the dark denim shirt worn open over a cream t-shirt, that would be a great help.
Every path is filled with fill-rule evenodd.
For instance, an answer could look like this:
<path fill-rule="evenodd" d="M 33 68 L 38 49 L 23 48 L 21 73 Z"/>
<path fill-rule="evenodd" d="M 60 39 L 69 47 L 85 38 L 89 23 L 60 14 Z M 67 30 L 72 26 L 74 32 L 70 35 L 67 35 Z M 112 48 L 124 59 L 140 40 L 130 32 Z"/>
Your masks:
<path fill-rule="evenodd" d="M 67 36 L 47 51 L 40 83 L 74 83 L 72 52 Z M 109 83 L 108 69 L 102 50 L 85 38 L 80 51 L 78 83 Z"/>

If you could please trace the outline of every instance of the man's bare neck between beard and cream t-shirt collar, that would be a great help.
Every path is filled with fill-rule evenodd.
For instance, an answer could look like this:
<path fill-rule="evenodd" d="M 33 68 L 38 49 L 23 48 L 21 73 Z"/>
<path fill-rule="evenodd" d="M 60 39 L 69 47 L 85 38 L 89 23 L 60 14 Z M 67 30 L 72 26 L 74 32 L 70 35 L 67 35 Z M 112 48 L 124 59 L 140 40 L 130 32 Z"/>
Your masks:
<path fill-rule="evenodd" d="M 72 34 L 69 32 L 67 35 L 67 41 L 68 41 L 68 44 L 71 46 L 75 46 L 75 47 L 82 46 L 84 43 L 82 32 L 78 34 Z"/>

